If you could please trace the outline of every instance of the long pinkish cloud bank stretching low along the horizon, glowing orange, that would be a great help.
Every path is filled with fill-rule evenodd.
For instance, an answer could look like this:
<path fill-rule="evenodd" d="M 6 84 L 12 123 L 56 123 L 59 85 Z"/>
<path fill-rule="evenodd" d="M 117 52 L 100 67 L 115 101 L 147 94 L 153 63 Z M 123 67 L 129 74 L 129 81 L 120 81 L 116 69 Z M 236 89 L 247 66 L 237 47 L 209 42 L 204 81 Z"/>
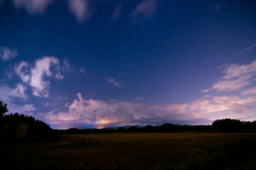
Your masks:
<path fill-rule="evenodd" d="M 81 93 L 77 93 L 77 99 L 65 105 L 68 108 L 67 111 L 52 110 L 44 114 L 44 120 L 57 128 L 58 125 L 63 124 L 73 127 L 79 127 L 79 125 L 91 127 L 159 125 L 165 122 L 182 121 L 186 124 L 200 124 L 199 119 L 209 123 L 216 118 L 237 118 L 244 110 L 252 109 L 249 105 L 255 101 L 256 97 L 252 96 L 205 96 L 186 104 L 150 105 L 84 99 Z"/>

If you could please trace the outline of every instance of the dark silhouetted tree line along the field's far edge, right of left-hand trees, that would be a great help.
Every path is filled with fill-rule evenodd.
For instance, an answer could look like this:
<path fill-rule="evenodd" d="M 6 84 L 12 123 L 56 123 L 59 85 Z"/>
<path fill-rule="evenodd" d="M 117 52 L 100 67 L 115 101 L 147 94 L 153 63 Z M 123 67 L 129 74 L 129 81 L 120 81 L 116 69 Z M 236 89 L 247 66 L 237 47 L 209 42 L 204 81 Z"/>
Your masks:
<path fill-rule="evenodd" d="M 127 133 L 127 132 L 145 132 L 145 133 L 175 133 L 175 132 L 256 132 L 256 121 L 242 122 L 241 120 L 225 118 L 215 120 L 212 125 L 146 125 L 145 127 L 117 127 L 103 129 L 77 129 L 70 128 L 67 130 L 55 130 L 59 133 L 67 134 L 89 134 L 89 133 Z"/>

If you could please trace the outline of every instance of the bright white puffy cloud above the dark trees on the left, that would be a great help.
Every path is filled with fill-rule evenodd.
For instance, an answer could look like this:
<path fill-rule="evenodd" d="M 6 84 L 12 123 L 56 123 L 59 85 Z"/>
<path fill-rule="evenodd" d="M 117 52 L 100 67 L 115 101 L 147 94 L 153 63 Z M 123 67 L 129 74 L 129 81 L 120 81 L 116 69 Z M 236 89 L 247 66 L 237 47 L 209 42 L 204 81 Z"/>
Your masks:
<path fill-rule="evenodd" d="M 65 68 L 64 71 L 70 68 L 68 62 L 64 62 L 64 67 L 61 69 L 58 58 L 45 56 L 37 59 L 35 66 L 30 68 L 27 62 L 20 62 L 19 66 L 15 67 L 15 73 L 20 76 L 23 83 L 27 83 L 32 88 L 34 96 L 49 97 L 50 81 L 45 80 L 45 78 L 52 77 L 52 74 L 54 74 L 57 80 L 63 79 L 64 76 L 61 74 L 63 68 Z"/>

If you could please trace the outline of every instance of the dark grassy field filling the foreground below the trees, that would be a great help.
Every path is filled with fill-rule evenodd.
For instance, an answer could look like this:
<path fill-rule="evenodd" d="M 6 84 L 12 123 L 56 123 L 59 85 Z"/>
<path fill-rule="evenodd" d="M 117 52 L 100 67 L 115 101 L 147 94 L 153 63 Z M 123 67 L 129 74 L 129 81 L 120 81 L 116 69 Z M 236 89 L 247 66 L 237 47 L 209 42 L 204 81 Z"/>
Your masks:
<path fill-rule="evenodd" d="M 1 145 L 6 169 L 255 169 L 256 134 L 62 134 Z"/>

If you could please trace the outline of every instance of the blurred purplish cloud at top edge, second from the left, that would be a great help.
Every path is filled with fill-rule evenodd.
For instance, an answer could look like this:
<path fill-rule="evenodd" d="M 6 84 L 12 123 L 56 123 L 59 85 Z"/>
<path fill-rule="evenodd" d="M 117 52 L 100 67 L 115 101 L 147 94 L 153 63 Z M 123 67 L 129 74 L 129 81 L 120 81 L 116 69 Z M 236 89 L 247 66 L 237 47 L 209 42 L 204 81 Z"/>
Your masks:
<path fill-rule="evenodd" d="M 93 8 L 88 0 L 68 0 L 68 6 L 78 22 L 88 19 L 93 12 Z"/>

